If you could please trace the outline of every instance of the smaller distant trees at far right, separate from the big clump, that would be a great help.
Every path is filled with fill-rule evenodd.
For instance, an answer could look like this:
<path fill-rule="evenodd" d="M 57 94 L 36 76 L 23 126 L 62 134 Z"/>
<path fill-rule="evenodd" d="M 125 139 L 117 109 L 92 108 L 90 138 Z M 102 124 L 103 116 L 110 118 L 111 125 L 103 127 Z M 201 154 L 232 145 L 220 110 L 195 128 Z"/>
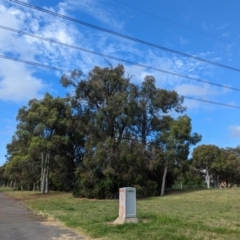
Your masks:
<path fill-rule="evenodd" d="M 219 148 L 200 145 L 192 154 L 192 168 L 206 180 L 207 187 L 233 187 L 240 184 L 240 147 Z"/>

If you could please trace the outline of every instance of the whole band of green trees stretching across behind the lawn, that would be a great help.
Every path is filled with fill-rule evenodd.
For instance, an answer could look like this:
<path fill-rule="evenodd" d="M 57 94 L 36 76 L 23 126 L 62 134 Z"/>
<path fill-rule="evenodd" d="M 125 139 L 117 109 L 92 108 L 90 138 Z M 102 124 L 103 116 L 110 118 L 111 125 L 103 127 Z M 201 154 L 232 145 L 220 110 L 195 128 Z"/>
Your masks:
<path fill-rule="evenodd" d="M 238 148 L 202 145 L 188 159 L 201 136 L 183 114 L 183 97 L 157 88 L 153 76 L 134 84 L 118 65 L 87 76 L 75 70 L 61 83 L 71 90 L 64 98 L 46 93 L 19 110 L 2 185 L 115 198 L 124 186 L 145 197 L 163 195 L 174 182 L 239 182 Z"/>

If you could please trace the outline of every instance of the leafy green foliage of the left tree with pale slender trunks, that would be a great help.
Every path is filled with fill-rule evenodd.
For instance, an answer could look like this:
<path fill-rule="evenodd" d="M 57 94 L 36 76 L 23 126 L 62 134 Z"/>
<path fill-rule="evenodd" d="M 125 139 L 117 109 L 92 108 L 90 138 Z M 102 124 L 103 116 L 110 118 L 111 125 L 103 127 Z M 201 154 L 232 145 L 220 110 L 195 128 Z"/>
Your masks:
<path fill-rule="evenodd" d="M 71 190 L 76 162 L 81 158 L 76 145 L 82 144 L 82 138 L 73 131 L 74 118 L 68 101 L 46 94 L 42 100 L 33 99 L 28 107 L 21 108 L 17 120 L 17 131 L 7 145 L 8 177 L 39 185 L 41 154 L 50 153 L 51 184 L 58 190 Z"/>

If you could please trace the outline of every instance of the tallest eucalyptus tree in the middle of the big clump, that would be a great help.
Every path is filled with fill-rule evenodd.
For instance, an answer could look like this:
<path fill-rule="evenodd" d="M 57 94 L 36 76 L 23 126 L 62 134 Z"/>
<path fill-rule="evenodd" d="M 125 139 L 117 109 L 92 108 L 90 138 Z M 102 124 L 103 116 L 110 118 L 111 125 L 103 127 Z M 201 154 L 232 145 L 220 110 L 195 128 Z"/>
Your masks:
<path fill-rule="evenodd" d="M 77 72 L 77 81 L 74 73 L 63 76 L 62 83 L 75 87 L 74 99 L 81 104 L 88 120 L 79 188 L 85 195 L 101 196 L 117 188 L 120 149 L 121 144 L 131 141 L 137 88 L 124 76 L 121 65 L 95 67 L 87 76 Z"/>

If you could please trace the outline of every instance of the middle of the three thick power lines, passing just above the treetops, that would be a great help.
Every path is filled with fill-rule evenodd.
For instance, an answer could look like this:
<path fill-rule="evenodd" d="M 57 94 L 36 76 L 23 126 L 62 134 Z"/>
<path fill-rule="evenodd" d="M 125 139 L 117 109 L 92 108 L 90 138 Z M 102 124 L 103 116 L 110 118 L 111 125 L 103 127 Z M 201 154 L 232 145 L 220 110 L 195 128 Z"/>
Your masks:
<path fill-rule="evenodd" d="M 190 76 L 182 75 L 182 74 L 179 74 L 179 73 L 174 73 L 174 72 L 171 72 L 171 71 L 163 70 L 163 69 L 160 69 L 160 68 L 151 67 L 151 66 L 148 66 L 148 65 L 145 65 L 145 64 L 136 63 L 136 62 L 132 62 L 132 61 L 129 61 L 129 60 L 109 56 L 109 55 L 106 55 L 106 54 L 103 54 L 103 53 L 99 53 L 99 52 L 88 50 L 88 49 L 85 49 L 85 48 L 82 48 L 82 47 L 77 47 L 77 46 L 70 45 L 70 44 L 67 44 L 67 43 L 59 42 L 59 41 L 56 41 L 56 40 L 53 40 L 53 39 L 50 39 L 50 38 L 45 38 L 45 37 L 42 37 L 42 36 L 39 36 L 39 35 L 36 35 L 36 34 L 19 31 L 19 30 L 13 29 L 13 28 L 2 26 L 2 25 L 0 25 L 0 28 L 4 29 L 4 30 L 7 30 L 7 31 L 14 32 L 14 33 L 26 35 L 26 36 L 29 36 L 29 37 L 32 37 L 32 38 L 47 41 L 47 42 L 50 42 L 50 43 L 55 43 L 55 44 L 58 44 L 58 45 L 62 45 L 64 47 L 72 48 L 72 49 L 79 50 L 79 51 L 82 51 L 82 52 L 87 52 L 87 53 L 98 55 L 98 56 L 101 56 L 101 57 L 113 59 L 113 60 L 116 60 L 116 61 L 119 61 L 119 62 L 125 62 L 125 63 L 128 63 L 128 64 L 132 64 L 132 65 L 135 65 L 135 66 L 145 68 L 145 69 L 146 68 L 151 69 L 151 70 L 158 71 L 158 72 L 161 72 L 161 73 L 166 73 L 166 74 L 170 74 L 170 75 L 181 77 L 181 78 L 190 79 L 190 80 L 197 81 L 197 82 L 202 82 L 202 83 L 213 85 L 213 86 L 216 86 L 216 87 L 222 87 L 222 88 L 226 88 L 226 89 L 229 89 L 229 90 L 240 91 L 239 88 L 230 87 L 230 86 L 210 82 L 210 81 L 207 81 L 207 80 L 203 80 L 203 79 L 200 79 L 200 78 L 190 77 Z"/>

